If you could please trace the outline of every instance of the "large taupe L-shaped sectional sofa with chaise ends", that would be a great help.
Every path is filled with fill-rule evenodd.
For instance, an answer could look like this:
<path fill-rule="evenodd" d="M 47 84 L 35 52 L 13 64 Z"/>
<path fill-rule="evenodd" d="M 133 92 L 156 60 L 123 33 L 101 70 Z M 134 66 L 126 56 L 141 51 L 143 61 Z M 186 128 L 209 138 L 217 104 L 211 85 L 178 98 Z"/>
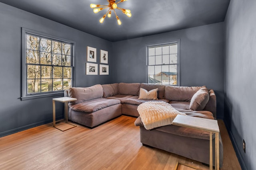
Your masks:
<path fill-rule="evenodd" d="M 64 92 L 64 96 L 77 100 L 69 104 L 68 119 L 87 127 L 96 127 L 122 114 L 138 117 L 134 124 L 140 127 L 140 141 L 144 146 L 156 147 L 209 164 L 209 133 L 175 125 L 166 125 L 152 130 L 144 128 L 137 107 L 152 100 L 139 99 L 140 88 L 148 91 L 158 88 L 158 100 L 154 101 L 169 103 L 188 116 L 216 119 L 216 96 L 213 90 L 204 86 L 180 87 L 145 83 L 97 84 L 87 88 L 70 88 Z M 193 96 L 202 88 L 207 89 L 208 98 L 204 100 L 206 103 L 203 109 L 192 109 Z M 221 137 L 219 139 L 221 167 L 223 145 Z M 213 136 L 213 144 L 214 140 Z"/>

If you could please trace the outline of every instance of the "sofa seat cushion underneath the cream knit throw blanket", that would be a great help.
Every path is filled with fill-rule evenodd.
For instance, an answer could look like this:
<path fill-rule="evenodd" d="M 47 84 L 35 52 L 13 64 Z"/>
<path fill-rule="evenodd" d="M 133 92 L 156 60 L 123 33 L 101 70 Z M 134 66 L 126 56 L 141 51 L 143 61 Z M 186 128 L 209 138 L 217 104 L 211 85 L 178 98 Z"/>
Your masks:
<path fill-rule="evenodd" d="M 188 110 L 188 111 L 189 112 L 186 113 L 186 115 L 188 115 L 188 116 L 202 117 L 202 118 L 208 117 L 210 119 L 214 119 L 213 116 L 208 115 L 209 113 L 211 113 L 210 111 L 200 111 L 198 113 L 196 113 L 196 111 L 194 111 L 194 112 L 190 112 L 190 110 Z M 182 113 L 184 113 L 184 112 L 182 111 Z M 134 124 L 136 126 L 144 127 L 140 117 L 138 117 L 136 119 Z M 170 133 L 170 134 L 174 134 L 174 135 L 180 135 L 180 136 L 184 136 L 184 137 L 193 137 L 193 138 L 206 139 L 206 140 L 210 139 L 209 132 L 201 131 L 198 129 L 192 129 L 192 128 L 188 128 L 188 127 L 180 127 L 180 126 L 176 126 L 176 125 L 166 125 L 166 126 L 158 127 L 154 130 L 162 131 L 162 132 Z M 214 138 L 214 135 L 213 135 L 213 138 Z"/>

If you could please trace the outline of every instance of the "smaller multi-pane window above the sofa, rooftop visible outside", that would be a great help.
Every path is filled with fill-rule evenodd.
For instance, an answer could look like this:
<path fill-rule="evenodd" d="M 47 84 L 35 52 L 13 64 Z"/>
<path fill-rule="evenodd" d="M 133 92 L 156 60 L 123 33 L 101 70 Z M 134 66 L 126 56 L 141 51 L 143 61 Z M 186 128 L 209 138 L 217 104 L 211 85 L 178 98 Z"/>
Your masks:
<path fill-rule="evenodd" d="M 148 83 L 179 85 L 178 41 L 147 46 Z"/>

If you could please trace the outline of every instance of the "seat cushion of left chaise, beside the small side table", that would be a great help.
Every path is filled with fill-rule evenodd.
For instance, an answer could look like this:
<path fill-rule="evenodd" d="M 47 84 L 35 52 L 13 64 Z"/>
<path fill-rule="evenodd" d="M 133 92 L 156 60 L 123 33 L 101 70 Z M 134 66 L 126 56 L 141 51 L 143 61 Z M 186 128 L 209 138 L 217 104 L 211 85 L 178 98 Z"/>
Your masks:
<path fill-rule="evenodd" d="M 113 106 L 116 104 L 120 104 L 120 100 L 98 98 L 98 99 L 70 105 L 69 107 L 74 111 L 83 111 L 87 113 L 92 113 L 94 111 L 103 109 L 105 107 Z"/>

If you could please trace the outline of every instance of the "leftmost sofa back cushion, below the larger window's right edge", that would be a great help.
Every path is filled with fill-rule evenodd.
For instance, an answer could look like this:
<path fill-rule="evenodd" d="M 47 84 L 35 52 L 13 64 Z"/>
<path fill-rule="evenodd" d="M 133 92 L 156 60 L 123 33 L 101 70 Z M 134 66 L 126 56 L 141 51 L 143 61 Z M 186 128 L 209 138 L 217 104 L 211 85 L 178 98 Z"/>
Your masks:
<path fill-rule="evenodd" d="M 102 98 L 103 88 L 100 84 L 96 84 L 91 87 L 71 87 L 68 90 L 68 96 L 70 98 L 76 98 L 76 101 L 70 102 L 70 104 L 77 104 L 88 100 Z"/>

